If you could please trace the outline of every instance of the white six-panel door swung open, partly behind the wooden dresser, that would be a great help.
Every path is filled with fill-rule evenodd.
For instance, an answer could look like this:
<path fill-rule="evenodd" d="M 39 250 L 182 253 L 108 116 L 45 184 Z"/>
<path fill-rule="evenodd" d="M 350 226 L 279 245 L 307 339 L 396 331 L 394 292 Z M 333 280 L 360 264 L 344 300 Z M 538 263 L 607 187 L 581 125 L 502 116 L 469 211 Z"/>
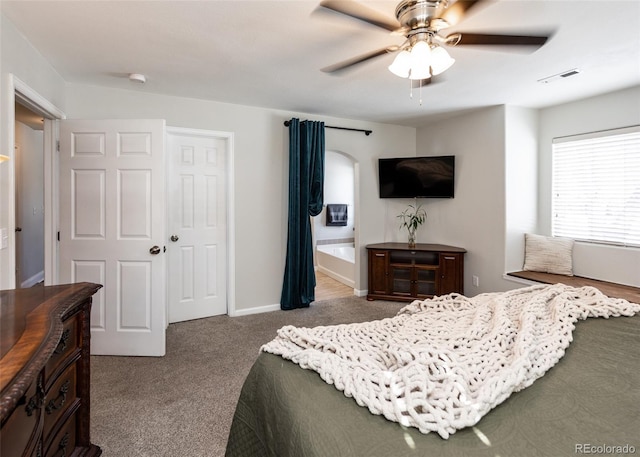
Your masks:
<path fill-rule="evenodd" d="M 165 354 L 163 120 L 60 122 L 60 283 L 89 281 L 91 352 Z"/>

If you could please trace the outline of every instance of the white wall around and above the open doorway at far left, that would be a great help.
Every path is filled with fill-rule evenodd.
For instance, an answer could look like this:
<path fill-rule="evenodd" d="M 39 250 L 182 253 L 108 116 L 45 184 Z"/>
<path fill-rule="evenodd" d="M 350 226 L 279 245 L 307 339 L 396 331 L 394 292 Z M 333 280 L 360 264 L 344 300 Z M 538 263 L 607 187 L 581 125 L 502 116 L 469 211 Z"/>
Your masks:
<path fill-rule="evenodd" d="M 13 157 L 14 96 L 10 75 L 63 111 L 65 82 L 3 15 L 0 15 L 0 64 L 0 151 Z M 9 235 L 9 247 L 0 250 L 0 289 L 13 288 L 15 283 L 14 166 L 14 160 L 0 164 L 0 227 L 7 228 Z"/>

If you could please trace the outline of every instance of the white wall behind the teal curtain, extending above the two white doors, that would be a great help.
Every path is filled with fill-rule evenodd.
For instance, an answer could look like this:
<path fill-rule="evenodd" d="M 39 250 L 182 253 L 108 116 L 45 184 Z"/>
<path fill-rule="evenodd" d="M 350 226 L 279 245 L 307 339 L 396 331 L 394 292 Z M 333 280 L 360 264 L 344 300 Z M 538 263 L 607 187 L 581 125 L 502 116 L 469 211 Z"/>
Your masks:
<path fill-rule="evenodd" d="M 67 117 L 162 118 L 168 126 L 234 133 L 236 310 L 258 311 L 278 304 L 282 288 L 287 234 L 288 129 L 292 116 L 328 125 L 371 129 L 373 133 L 326 130 L 326 149 L 349 154 L 358 163 L 356 192 L 360 208 L 356 226 L 360 274 L 356 289 L 366 289 L 367 243 L 383 237 L 384 207 L 377 196 L 377 157 L 413 155 L 414 128 L 376 124 L 205 100 L 71 84 Z M 362 221 L 362 223 L 359 223 Z M 356 265 L 358 269 L 358 265 Z"/>

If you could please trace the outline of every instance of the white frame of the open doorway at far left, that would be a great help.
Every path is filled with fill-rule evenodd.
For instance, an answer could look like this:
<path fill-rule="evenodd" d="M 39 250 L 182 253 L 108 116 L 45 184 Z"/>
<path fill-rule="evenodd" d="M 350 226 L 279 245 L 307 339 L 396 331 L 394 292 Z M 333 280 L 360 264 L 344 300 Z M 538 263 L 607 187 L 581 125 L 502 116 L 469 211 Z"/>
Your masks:
<path fill-rule="evenodd" d="M 6 120 L 7 126 L 7 151 L 11 161 L 15 161 L 15 103 L 26 106 L 31 111 L 44 118 L 44 281 L 46 285 L 56 284 L 58 280 L 58 251 L 57 251 L 57 227 L 58 227 L 58 191 L 57 191 L 57 125 L 56 120 L 65 119 L 66 115 L 53 103 L 40 95 L 27 83 L 16 77 L 13 73 L 8 75 L 7 102 L 9 105 Z M 7 264 L 9 271 L 16 268 L 16 176 L 15 166 L 11 165 L 9 172 L 9 195 L 7 195 L 8 205 L 8 235 Z M 48 192 L 47 192 L 48 191 Z M 15 289 L 16 275 L 6 275 L 7 283 L 0 284 L 3 289 Z"/>

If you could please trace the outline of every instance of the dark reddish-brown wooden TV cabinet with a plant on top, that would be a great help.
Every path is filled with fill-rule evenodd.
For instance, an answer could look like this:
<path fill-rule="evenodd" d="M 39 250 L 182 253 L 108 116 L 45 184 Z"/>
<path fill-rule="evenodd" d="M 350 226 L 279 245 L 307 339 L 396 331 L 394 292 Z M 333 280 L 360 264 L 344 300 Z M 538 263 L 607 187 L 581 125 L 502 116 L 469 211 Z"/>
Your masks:
<path fill-rule="evenodd" d="M 367 246 L 368 300 L 412 301 L 463 293 L 465 249 L 443 244 L 379 243 Z"/>

